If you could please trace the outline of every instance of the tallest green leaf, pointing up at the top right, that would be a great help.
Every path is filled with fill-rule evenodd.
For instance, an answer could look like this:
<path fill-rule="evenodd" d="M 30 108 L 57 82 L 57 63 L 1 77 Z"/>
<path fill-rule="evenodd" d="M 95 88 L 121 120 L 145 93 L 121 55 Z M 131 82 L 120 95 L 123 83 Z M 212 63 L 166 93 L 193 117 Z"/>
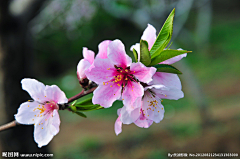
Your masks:
<path fill-rule="evenodd" d="M 174 14 L 175 14 L 175 8 L 172 10 L 167 20 L 163 24 L 162 29 L 159 32 L 157 39 L 150 50 L 150 54 L 152 58 L 158 56 L 170 42 L 172 37 L 172 32 L 173 32 Z"/>

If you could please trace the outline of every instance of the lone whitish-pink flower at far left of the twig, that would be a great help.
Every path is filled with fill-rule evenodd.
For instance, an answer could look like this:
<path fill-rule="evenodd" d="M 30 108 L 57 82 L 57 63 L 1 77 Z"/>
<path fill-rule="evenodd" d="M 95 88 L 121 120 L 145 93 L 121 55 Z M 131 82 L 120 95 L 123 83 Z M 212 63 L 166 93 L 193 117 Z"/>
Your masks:
<path fill-rule="evenodd" d="M 45 86 L 28 78 L 21 83 L 23 90 L 27 91 L 34 101 L 22 103 L 15 119 L 20 124 L 34 124 L 34 139 L 38 147 L 45 146 L 59 132 L 58 104 L 67 103 L 68 99 L 56 85 Z"/>

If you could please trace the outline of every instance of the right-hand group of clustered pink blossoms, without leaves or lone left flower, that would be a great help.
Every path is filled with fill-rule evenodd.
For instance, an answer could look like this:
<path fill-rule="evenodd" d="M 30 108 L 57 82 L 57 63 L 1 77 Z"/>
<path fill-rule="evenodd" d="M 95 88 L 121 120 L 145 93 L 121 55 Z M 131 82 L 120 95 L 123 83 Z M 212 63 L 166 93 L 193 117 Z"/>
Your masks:
<path fill-rule="evenodd" d="M 150 50 L 156 40 L 156 29 L 148 24 L 141 39 L 148 42 Z M 140 62 L 140 44 L 131 47 L 138 53 L 138 61 L 126 54 L 120 40 L 106 40 L 99 44 L 99 52 L 94 59 L 94 52 L 83 49 L 82 59 L 78 64 L 78 77 L 88 78 L 98 84 L 93 92 L 93 104 L 104 108 L 112 106 L 116 100 L 122 100 L 123 107 L 118 110 L 115 133 L 122 131 L 122 124 L 134 123 L 148 128 L 153 122 L 159 123 L 164 116 L 162 99 L 182 98 L 181 82 L 176 74 L 156 72 L 155 67 L 147 67 Z M 172 64 L 187 54 L 170 58 L 160 64 Z"/>

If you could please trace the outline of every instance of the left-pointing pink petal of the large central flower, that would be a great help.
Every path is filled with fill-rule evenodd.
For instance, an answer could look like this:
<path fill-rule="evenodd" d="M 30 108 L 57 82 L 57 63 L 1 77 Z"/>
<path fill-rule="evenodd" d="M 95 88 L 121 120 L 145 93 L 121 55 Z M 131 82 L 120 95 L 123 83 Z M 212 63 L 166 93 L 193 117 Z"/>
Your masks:
<path fill-rule="evenodd" d="M 102 84 L 111 80 L 116 68 L 109 59 L 97 58 L 94 61 L 94 67 L 86 72 L 87 77 L 97 84 Z"/>

